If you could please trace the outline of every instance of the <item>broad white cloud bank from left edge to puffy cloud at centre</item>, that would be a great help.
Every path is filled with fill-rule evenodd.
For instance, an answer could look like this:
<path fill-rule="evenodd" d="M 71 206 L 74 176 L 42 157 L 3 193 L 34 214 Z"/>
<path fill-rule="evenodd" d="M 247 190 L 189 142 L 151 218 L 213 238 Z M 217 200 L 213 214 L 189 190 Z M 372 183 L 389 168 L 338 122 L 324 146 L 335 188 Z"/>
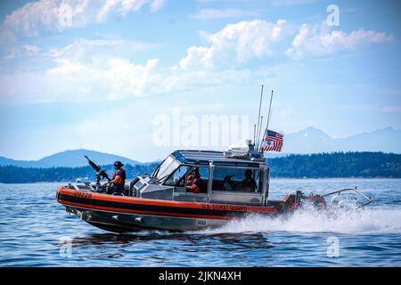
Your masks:
<path fill-rule="evenodd" d="M 12 102 L 75 102 L 245 84 L 265 73 L 255 74 L 254 70 L 231 66 L 231 57 L 240 64 L 270 56 L 271 45 L 282 37 L 284 24 L 284 20 L 242 21 L 227 25 L 215 34 L 202 33 L 210 45 L 190 47 L 187 56 L 172 67 L 163 67 L 157 58 L 138 63 L 128 54 L 149 50 L 158 44 L 78 38 L 61 49 L 41 51 L 37 55 L 45 56 L 50 68 L 1 75 L 0 90 Z M 201 64 L 196 65 L 196 61 Z M 209 64 L 217 68 L 209 69 Z"/>

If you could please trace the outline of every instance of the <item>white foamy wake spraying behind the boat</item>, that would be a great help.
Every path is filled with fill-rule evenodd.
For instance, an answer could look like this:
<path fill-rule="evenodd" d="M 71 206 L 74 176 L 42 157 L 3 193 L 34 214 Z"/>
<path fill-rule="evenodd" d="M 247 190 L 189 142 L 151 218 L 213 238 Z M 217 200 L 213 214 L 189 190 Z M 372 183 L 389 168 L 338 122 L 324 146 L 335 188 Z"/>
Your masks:
<path fill-rule="evenodd" d="M 290 216 L 248 216 L 225 226 L 201 231 L 205 234 L 225 232 L 337 232 L 349 234 L 401 234 L 401 208 L 336 210 L 331 213 L 307 208 Z"/>

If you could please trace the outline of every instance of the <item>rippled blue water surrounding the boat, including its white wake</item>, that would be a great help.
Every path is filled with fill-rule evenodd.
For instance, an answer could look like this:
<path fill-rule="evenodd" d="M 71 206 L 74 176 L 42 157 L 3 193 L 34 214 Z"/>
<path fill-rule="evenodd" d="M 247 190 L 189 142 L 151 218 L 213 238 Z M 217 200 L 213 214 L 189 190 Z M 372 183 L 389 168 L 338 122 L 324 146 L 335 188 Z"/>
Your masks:
<path fill-rule="evenodd" d="M 0 183 L 0 266 L 401 266 L 400 183 L 275 179 L 273 198 L 357 185 L 372 204 L 333 216 L 305 210 L 287 218 L 249 216 L 202 232 L 124 235 L 66 213 L 55 200 L 60 183 Z"/>

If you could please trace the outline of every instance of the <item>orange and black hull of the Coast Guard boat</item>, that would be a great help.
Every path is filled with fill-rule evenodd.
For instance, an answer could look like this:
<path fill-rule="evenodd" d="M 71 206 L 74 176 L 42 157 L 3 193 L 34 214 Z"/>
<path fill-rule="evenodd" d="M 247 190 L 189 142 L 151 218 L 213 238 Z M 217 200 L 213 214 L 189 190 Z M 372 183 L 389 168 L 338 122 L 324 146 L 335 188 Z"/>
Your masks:
<path fill-rule="evenodd" d="M 140 199 L 65 187 L 57 190 L 57 201 L 87 223 L 111 232 L 200 230 L 250 214 L 277 213 L 274 207 Z"/>

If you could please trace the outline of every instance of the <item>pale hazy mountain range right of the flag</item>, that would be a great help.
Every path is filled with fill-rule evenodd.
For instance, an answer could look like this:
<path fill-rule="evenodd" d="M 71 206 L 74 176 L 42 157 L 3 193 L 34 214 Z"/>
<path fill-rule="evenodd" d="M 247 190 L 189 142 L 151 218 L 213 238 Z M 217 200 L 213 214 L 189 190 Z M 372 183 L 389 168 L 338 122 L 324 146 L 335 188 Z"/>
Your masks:
<path fill-rule="evenodd" d="M 285 134 L 283 152 L 317 153 L 332 151 L 383 151 L 401 153 L 401 130 L 391 127 L 346 138 L 332 138 L 323 131 L 308 127 Z"/>

